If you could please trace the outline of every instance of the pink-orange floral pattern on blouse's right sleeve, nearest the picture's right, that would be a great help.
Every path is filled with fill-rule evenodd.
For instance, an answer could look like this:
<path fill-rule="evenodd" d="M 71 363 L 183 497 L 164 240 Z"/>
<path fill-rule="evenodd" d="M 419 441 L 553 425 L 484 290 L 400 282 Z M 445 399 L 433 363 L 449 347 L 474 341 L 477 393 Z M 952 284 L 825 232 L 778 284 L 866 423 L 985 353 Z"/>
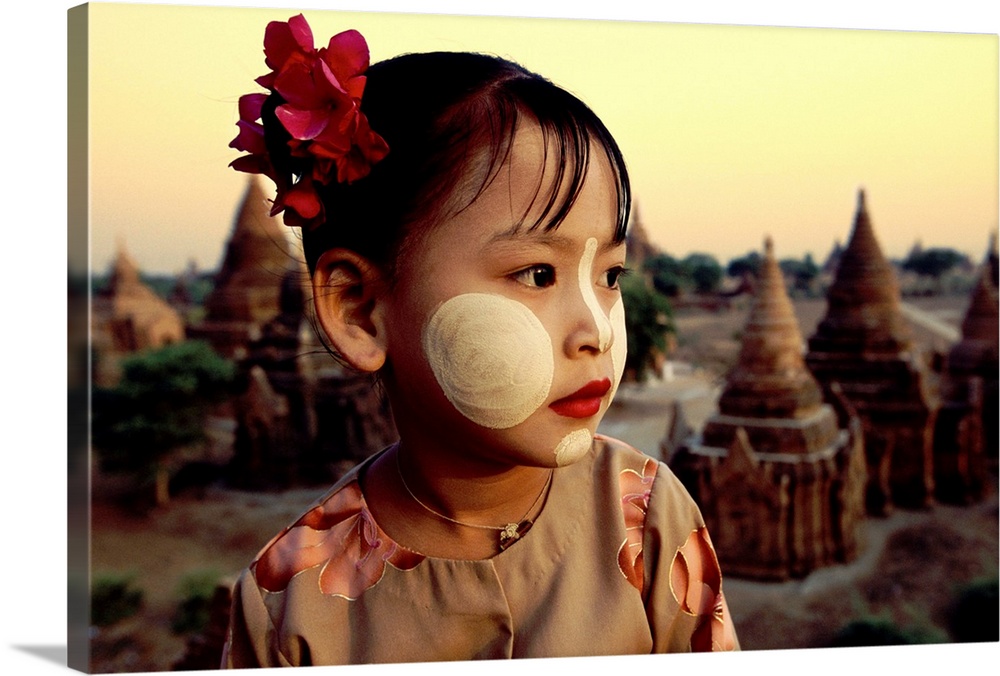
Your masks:
<path fill-rule="evenodd" d="M 699 618 L 691 650 L 734 650 L 736 630 L 722 595 L 722 571 L 708 529 L 692 531 L 670 564 L 670 590 L 681 610 Z"/>

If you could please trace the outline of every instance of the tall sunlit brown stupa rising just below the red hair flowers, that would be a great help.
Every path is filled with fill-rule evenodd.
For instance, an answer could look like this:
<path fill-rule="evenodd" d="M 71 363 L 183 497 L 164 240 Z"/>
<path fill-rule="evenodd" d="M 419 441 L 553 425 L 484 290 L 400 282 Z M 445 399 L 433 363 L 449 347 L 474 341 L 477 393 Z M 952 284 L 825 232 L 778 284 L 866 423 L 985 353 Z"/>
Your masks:
<path fill-rule="evenodd" d="M 251 175 L 205 299 L 205 318 L 191 335 L 204 338 L 224 357 L 245 356 L 261 326 L 278 314 L 281 280 L 295 265 L 286 228 L 270 215 L 260 182 Z"/>

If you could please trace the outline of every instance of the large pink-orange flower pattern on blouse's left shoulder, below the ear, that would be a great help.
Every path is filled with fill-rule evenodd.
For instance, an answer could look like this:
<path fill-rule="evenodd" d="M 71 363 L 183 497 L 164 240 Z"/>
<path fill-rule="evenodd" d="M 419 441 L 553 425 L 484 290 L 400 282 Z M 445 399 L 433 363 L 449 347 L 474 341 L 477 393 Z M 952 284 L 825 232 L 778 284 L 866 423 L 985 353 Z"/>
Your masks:
<path fill-rule="evenodd" d="M 281 592 L 299 573 L 322 566 L 320 591 L 353 601 L 382 579 L 386 564 L 409 570 L 423 559 L 378 527 L 355 481 L 275 537 L 251 569 L 262 589 Z"/>

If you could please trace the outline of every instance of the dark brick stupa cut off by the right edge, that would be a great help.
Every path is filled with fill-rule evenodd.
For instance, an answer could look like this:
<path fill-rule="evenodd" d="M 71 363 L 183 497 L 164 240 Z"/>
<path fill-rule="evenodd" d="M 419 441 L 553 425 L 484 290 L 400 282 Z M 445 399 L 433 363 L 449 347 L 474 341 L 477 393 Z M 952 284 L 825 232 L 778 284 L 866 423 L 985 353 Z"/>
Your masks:
<path fill-rule="evenodd" d="M 994 244 L 995 246 L 995 244 Z M 962 337 L 941 375 L 941 409 L 934 428 L 935 493 L 942 502 L 968 504 L 991 489 L 989 465 L 997 462 L 997 289 L 993 246 L 970 294 Z"/>

